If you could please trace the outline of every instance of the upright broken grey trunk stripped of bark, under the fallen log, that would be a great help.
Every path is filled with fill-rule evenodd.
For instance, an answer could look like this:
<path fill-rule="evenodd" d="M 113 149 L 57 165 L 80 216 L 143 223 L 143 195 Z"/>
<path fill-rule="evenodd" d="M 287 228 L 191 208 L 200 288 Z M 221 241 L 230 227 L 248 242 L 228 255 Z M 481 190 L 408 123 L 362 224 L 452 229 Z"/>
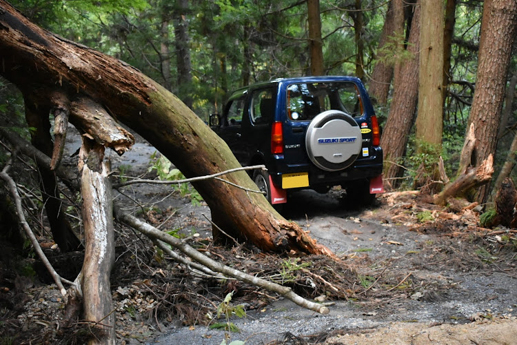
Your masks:
<path fill-rule="evenodd" d="M 81 195 L 85 255 L 82 284 L 84 317 L 92 322 L 88 344 L 115 344 L 115 313 L 110 273 L 115 262 L 111 184 L 104 146 L 83 138 Z"/>

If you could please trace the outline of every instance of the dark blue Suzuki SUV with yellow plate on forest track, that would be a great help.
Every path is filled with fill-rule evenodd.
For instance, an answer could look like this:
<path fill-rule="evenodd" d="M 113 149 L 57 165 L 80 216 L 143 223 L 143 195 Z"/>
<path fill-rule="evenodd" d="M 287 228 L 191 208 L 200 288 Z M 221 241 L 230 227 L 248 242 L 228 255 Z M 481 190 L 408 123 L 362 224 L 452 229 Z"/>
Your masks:
<path fill-rule="evenodd" d="M 287 190 L 327 193 L 341 185 L 369 204 L 382 193 L 381 131 L 365 87 L 356 77 L 276 79 L 232 93 L 211 128 L 252 172 L 271 204 Z"/>

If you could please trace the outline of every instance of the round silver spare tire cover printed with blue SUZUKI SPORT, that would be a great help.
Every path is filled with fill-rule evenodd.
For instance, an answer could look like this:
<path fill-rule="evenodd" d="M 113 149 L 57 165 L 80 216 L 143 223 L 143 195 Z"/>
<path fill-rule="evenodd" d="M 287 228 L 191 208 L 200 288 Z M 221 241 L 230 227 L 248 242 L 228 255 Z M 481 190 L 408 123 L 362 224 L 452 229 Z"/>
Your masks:
<path fill-rule="evenodd" d="M 350 115 L 340 110 L 322 112 L 307 127 L 307 155 L 323 170 L 347 168 L 359 156 L 362 146 L 361 128 Z"/>

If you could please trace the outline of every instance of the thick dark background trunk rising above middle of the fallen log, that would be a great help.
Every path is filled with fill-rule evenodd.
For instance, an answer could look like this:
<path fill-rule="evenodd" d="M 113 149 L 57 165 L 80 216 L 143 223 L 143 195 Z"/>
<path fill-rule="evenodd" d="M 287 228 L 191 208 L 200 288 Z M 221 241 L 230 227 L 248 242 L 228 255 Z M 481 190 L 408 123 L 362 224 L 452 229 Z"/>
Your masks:
<path fill-rule="evenodd" d="M 177 84 L 181 100 L 192 108 L 190 86 L 192 84 L 192 66 L 190 63 L 190 48 L 187 21 L 188 0 L 176 1 L 174 36 L 176 37 L 176 66 L 178 69 Z"/>

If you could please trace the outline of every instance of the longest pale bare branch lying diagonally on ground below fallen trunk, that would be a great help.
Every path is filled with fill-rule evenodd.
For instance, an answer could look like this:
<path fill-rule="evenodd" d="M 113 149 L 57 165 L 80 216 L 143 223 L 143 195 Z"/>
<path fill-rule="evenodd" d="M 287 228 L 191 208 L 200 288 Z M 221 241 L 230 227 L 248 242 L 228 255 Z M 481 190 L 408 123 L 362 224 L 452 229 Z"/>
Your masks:
<path fill-rule="evenodd" d="M 197 250 L 195 250 L 188 244 L 181 242 L 179 239 L 172 237 L 168 233 L 163 233 L 160 230 L 151 226 L 150 224 L 147 224 L 132 215 L 120 213 L 120 211 L 117 208 L 114 208 L 114 210 L 115 210 L 117 219 L 122 221 L 124 224 L 131 226 L 132 228 L 134 228 L 136 230 L 139 230 L 141 233 L 143 233 L 144 235 L 146 235 L 148 237 L 151 237 L 153 239 L 159 239 L 160 241 L 163 241 L 167 244 L 170 244 L 171 246 L 174 246 L 174 248 L 180 250 L 182 253 L 184 253 L 188 257 L 194 259 L 196 262 L 199 262 L 200 264 L 203 264 L 204 266 L 207 266 L 208 268 L 210 268 L 211 270 L 214 270 L 215 272 L 223 273 L 224 275 L 234 277 L 247 284 L 259 286 L 261 288 L 265 288 L 266 290 L 273 291 L 274 293 L 278 293 L 278 294 L 282 295 L 283 297 L 290 299 L 292 302 L 298 304 L 298 306 L 302 306 L 303 308 L 307 308 L 312 311 L 317 311 L 318 313 L 321 313 L 321 314 L 329 313 L 329 308 L 327 308 L 326 306 L 323 306 L 321 304 L 317 304 L 314 302 L 310 302 L 307 299 L 304 299 L 303 297 L 294 293 L 291 288 L 287 288 L 286 286 L 274 284 L 272 282 L 268 282 L 265 279 L 253 277 L 252 275 L 247 275 L 246 273 L 243 273 L 239 270 L 225 266 L 219 262 L 216 262 L 213 259 L 210 259 L 210 257 L 207 257 L 207 256 L 199 253 Z"/>

